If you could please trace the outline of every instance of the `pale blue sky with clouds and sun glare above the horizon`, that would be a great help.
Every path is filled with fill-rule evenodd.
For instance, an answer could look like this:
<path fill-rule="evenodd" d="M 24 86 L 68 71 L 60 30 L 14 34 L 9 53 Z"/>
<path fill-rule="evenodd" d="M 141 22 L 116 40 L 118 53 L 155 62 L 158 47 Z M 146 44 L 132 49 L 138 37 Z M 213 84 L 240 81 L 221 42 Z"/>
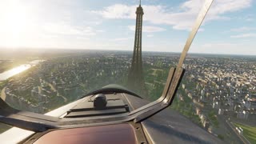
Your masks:
<path fill-rule="evenodd" d="M 142 0 L 142 51 L 181 52 L 204 0 Z M 133 50 L 138 0 L 1 0 L 0 49 Z M 256 55 L 256 1 L 214 0 L 190 53 Z"/>

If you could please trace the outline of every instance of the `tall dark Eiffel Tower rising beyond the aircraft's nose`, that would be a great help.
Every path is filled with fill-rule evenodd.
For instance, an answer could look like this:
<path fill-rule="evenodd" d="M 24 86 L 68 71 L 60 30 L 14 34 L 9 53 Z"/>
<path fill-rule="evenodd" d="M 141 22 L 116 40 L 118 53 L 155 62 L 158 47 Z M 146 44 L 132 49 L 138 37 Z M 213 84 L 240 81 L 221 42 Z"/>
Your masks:
<path fill-rule="evenodd" d="M 136 10 L 136 29 L 134 38 L 134 54 L 133 60 L 128 74 L 128 86 L 131 90 L 139 92 L 140 94 L 146 94 L 146 86 L 143 78 L 142 71 L 142 16 L 143 9 L 141 1 Z"/>

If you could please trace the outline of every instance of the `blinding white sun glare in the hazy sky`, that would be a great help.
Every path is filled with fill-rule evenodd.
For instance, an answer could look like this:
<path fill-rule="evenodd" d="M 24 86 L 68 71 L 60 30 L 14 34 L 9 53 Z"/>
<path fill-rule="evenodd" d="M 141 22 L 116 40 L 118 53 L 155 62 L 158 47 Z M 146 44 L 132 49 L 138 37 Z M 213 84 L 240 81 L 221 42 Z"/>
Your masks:
<path fill-rule="evenodd" d="M 16 0 L 7 1 L 0 9 L 0 38 L 4 40 L 6 46 L 22 45 L 22 38 L 26 37 L 29 30 L 27 23 L 30 20 L 30 13 Z"/>

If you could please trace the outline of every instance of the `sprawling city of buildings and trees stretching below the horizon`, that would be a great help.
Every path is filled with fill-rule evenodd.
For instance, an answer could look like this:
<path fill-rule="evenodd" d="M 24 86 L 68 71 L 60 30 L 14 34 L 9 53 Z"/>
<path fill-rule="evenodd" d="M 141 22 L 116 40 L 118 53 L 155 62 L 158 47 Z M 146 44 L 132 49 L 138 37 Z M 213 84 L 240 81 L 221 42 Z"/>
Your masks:
<path fill-rule="evenodd" d="M 32 63 L 31 58 L 43 58 L 44 61 L 11 78 L 7 75 L 4 78 L 6 81 L 0 83 L 1 98 L 19 110 L 44 114 L 83 97 L 91 90 L 112 83 L 126 86 L 132 58 L 130 53 L 59 51 L 52 54 L 34 54 L 32 57 L 21 54 L 22 58 L 28 58 L 26 63 Z M 143 76 L 148 92 L 146 98 L 154 101 L 162 94 L 170 66 L 176 65 L 178 55 L 152 53 L 144 56 Z M 5 71 L 6 66 L 13 66 L 20 61 L 21 58 L 2 59 L 0 67 Z M 246 129 L 242 128 L 242 133 L 241 129 L 236 129 L 235 124 L 252 126 L 252 129 L 255 127 L 255 58 L 198 54 L 187 58 L 184 68 L 186 73 L 171 109 L 177 110 L 226 143 L 240 142 L 241 135 L 250 138 Z M 254 143 L 255 138 L 249 138 Z"/>

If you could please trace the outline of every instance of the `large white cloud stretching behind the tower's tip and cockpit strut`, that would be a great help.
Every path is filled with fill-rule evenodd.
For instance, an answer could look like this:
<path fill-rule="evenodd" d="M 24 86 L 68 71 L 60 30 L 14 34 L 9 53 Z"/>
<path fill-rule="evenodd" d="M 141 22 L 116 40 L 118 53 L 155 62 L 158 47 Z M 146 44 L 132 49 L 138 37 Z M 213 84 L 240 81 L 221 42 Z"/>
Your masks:
<path fill-rule="evenodd" d="M 170 11 L 166 6 L 142 6 L 145 13 L 144 20 L 154 24 L 170 25 L 175 30 L 190 30 L 204 2 L 204 0 L 183 2 L 182 5 L 179 6 L 179 12 Z M 216 0 L 210 8 L 209 14 L 206 16 L 206 21 L 217 19 L 228 20 L 230 18 L 224 17 L 222 14 L 242 10 L 251 5 L 252 0 Z M 105 7 L 103 10 L 94 10 L 91 12 L 101 15 L 103 18 L 135 19 L 136 15 L 134 10 L 136 10 L 136 7 L 137 6 L 115 4 Z"/>

